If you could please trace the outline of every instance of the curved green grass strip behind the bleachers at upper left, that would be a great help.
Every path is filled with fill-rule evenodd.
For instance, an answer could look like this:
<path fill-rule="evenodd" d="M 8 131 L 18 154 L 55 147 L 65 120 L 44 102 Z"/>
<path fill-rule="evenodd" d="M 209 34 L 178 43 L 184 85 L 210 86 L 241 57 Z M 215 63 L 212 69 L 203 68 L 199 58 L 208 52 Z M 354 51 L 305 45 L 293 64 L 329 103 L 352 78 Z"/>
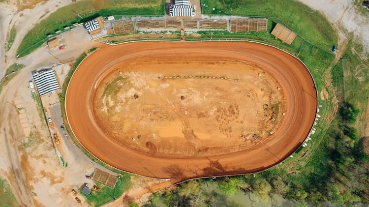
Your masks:
<path fill-rule="evenodd" d="M 163 0 L 83 0 L 64 6 L 28 31 L 17 49 L 18 58 L 39 48 L 49 34 L 57 35 L 56 31 L 64 31 L 66 26 L 108 15 L 164 15 Z"/>

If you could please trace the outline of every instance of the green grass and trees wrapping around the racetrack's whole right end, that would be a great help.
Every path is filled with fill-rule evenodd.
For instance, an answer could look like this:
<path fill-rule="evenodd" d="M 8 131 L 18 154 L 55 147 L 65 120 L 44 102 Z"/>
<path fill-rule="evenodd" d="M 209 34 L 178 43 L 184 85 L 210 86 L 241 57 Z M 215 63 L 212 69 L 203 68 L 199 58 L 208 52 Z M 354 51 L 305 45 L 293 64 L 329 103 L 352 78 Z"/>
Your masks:
<path fill-rule="evenodd" d="M 296 1 L 202 0 L 202 5 L 204 3 L 208 5 L 203 7 L 205 14 L 272 16 L 268 18 L 268 32 L 235 34 L 202 31 L 201 38 L 252 39 L 275 45 L 298 56 L 307 65 L 316 83 L 318 114 L 321 118 L 314 126 L 317 132 L 310 136 L 312 140 L 307 143 L 308 146 L 297 150 L 293 153 L 294 157 L 277 167 L 258 173 L 255 177 L 245 175 L 191 180 L 181 184 L 178 189 L 154 194 L 150 200 L 161 199 L 169 206 L 212 206 L 217 200 L 226 200 L 241 189 L 245 193 L 256 194 L 264 201 L 278 194 L 303 203 L 368 203 L 369 178 L 366 172 L 369 171 L 369 157 L 362 151 L 361 137 L 368 104 L 369 80 L 368 70 L 358 73 L 355 68 L 358 65 L 368 66 L 369 62 L 359 59 L 352 52 L 355 48 L 361 53 L 360 46 L 350 42 L 343 58 L 336 63 L 335 57 L 327 52 L 332 45 L 337 44 L 335 30 L 321 14 Z M 273 39 L 269 34 L 271 25 L 278 21 L 299 34 L 297 42 L 288 46 Z M 357 77 L 357 74 L 361 74 L 359 76 L 365 80 Z M 322 90 L 328 91 L 327 99 L 322 100 Z"/>

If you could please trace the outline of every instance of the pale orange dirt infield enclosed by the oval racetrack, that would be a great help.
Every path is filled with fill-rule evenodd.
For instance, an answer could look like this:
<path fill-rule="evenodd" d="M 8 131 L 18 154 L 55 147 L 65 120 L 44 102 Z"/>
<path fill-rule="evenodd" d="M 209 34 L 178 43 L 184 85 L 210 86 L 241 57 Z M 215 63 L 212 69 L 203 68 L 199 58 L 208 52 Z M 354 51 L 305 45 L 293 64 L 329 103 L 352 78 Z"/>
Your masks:
<path fill-rule="evenodd" d="M 215 59 L 115 64 L 94 95 L 97 123 L 119 144 L 160 157 L 221 155 L 267 140 L 286 110 L 280 84 L 253 63 Z"/>

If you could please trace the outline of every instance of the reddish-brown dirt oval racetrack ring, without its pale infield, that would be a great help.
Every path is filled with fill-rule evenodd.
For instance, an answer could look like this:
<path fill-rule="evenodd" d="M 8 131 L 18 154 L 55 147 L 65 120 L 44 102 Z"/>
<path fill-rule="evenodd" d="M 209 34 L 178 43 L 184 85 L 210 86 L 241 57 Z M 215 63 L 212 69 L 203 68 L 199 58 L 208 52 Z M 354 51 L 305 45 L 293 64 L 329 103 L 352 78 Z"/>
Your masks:
<path fill-rule="evenodd" d="M 173 59 L 211 58 L 252 62 L 272 74 L 286 94 L 286 112 L 280 126 L 267 141 L 252 148 L 207 157 L 155 157 L 118 145 L 104 133 L 93 117 L 92 94 L 118 59 L 173 56 Z M 132 60 L 133 61 L 133 60 Z M 174 70 L 179 70 L 175 68 Z M 255 74 L 257 77 L 257 74 Z M 317 93 L 305 65 L 271 46 L 254 42 L 132 42 L 103 46 L 86 58 L 69 83 L 65 110 L 78 141 L 101 161 L 126 172 L 178 182 L 196 177 L 250 174 L 273 167 L 299 148 L 314 123 Z"/>

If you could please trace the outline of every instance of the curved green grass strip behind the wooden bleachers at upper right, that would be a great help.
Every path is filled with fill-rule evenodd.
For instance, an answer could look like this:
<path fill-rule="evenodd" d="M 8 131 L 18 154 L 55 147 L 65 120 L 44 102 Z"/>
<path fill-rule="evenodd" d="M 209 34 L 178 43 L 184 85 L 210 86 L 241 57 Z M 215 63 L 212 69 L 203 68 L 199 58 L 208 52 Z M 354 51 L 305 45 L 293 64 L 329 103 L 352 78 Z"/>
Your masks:
<path fill-rule="evenodd" d="M 327 19 L 295 0 L 201 0 L 203 4 L 203 14 L 274 17 L 325 50 L 337 45 L 337 35 Z"/>

